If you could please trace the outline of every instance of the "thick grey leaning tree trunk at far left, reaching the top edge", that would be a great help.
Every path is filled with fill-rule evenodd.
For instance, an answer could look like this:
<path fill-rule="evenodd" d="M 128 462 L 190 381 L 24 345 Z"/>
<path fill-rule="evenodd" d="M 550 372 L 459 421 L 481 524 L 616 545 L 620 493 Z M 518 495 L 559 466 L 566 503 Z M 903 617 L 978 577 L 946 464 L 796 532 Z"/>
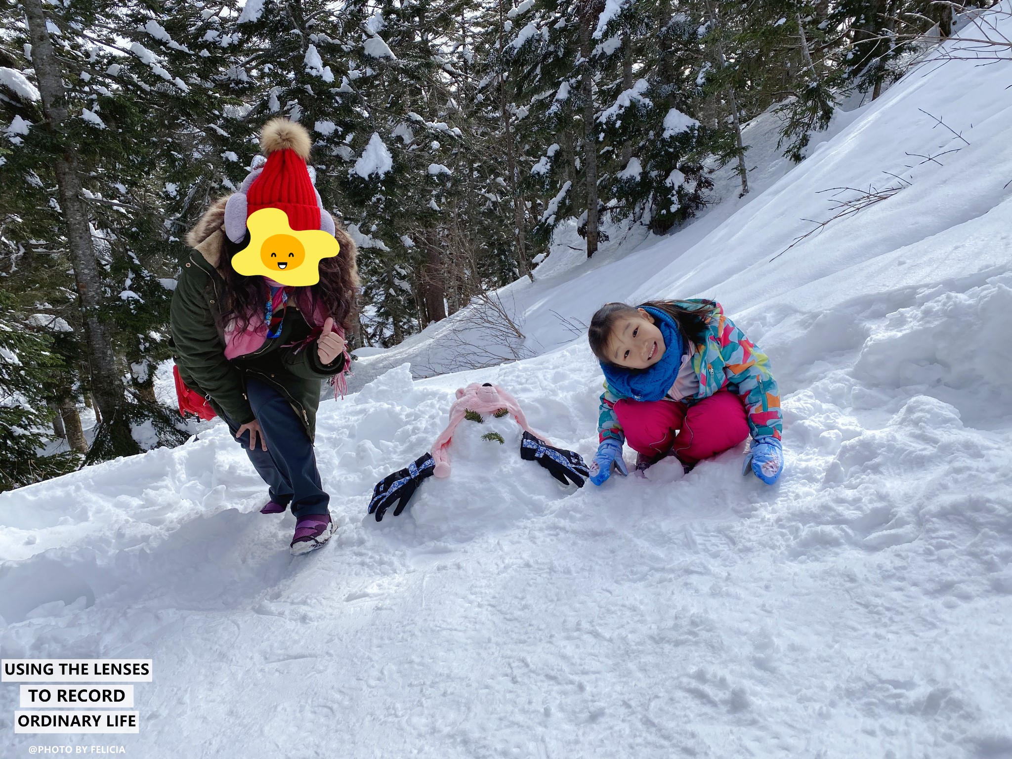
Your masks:
<path fill-rule="evenodd" d="M 24 12 L 31 37 L 31 61 L 38 81 L 46 129 L 56 139 L 61 138 L 61 124 L 68 117 L 64 85 L 56 53 L 46 28 L 46 14 L 41 0 L 24 0 Z M 62 146 L 62 154 L 56 158 L 54 172 L 63 210 L 67 246 L 74 266 L 77 282 L 78 304 L 82 312 L 85 341 L 88 346 L 88 363 L 91 371 L 91 389 L 97 412 L 102 419 L 111 422 L 121 419 L 126 424 L 125 415 L 119 414 L 125 406 L 123 384 L 116 371 L 115 354 L 105 326 L 98 320 L 102 309 L 102 277 L 95 259 L 91 239 L 89 214 L 82 199 L 80 170 L 77 156 L 72 146 Z M 121 437 L 121 436 L 117 436 Z M 132 440 L 126 430 L 125 438 Z M 137 452 L 140 448 L 134 443 Z M 129 448 L 129 444 L 126 444 Z"/>

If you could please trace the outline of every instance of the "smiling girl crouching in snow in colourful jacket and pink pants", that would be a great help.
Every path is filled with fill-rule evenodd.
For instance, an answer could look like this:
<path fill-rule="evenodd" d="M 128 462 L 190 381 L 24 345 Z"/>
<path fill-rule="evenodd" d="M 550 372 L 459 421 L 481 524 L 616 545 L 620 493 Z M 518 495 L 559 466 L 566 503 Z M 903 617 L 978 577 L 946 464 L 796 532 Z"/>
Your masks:
<path fill-rule="evenodd" d="M 751 433 L 743 474 L 772 485 L 783 469 L 782 418 L 769 359 L 712 301 L 603 306 L 588 330 L 604 371 L 600 446 L 591 482 L 627 474 L 622 443 L 643 473 L 668 455 L 688 471 Z"/>

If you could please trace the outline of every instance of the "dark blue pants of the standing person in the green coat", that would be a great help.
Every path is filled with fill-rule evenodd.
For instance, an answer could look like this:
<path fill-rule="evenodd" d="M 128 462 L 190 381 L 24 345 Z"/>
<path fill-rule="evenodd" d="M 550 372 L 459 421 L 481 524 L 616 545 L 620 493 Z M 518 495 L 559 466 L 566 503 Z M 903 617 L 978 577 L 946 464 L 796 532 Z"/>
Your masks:
<path fill-rule="evenodd" d="M 260 422 L 267 450 L 260 447 L 259 441 L 255 448 L 250 448 L 249 432 L 238 438 L 239 444 L 267 483 L 270 499 L 290 504 L 296 519 L 328 513 L 330 496 L 320 482 L 313 442 L 294 409 L 276 390 L 255 377 L 248 376 L 246 397 Z M 239 425 L 229 418 L 225 421 L 235 436 Z"/>

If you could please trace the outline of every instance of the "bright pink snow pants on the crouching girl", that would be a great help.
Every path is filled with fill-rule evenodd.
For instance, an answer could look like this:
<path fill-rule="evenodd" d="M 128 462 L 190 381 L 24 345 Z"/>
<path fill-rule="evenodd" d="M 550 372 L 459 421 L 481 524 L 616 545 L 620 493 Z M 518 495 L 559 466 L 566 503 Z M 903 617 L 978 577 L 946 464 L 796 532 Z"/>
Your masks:
<path fill-rule="evenodd" d="M 691 466 L 740 445 L 749 436 L 745 404 L 741 396 L 727 390 L 692 406 L 623 398 L 615 403 L 614 411 L 625 442 L 650 458 L 671 450 L 682 463 Z"/>

